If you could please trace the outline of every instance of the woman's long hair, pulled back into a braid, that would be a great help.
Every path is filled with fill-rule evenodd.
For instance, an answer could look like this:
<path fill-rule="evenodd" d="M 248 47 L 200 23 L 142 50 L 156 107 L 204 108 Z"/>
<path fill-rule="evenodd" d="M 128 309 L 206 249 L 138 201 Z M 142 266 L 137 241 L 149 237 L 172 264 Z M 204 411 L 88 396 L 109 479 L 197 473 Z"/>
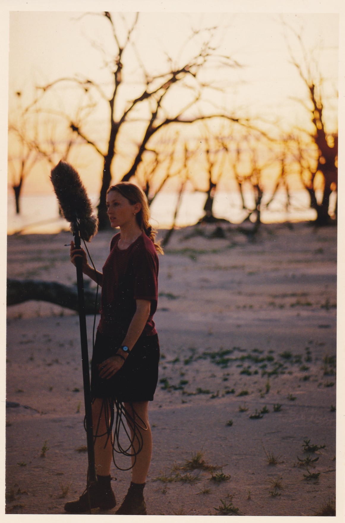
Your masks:
<path fill-rule="evenodd" d="M 146 236 L 152 241 L 158 253 L 164 254 L 160 246 L 160 242 L 155 242 L 157 231 L 152 229 L 149 224 L 149 207 L 148 201 L 144 191 L 137 185 L 131 184 L 129 181 L 121 181 L 119 184 L 111 185 L 107 190 L 107 195 L 110 191 L 118 191 L 120 195 L 126 198 L 132 205 L 140 203 L 141 209 L 135 214 L 136 223 Z"/>

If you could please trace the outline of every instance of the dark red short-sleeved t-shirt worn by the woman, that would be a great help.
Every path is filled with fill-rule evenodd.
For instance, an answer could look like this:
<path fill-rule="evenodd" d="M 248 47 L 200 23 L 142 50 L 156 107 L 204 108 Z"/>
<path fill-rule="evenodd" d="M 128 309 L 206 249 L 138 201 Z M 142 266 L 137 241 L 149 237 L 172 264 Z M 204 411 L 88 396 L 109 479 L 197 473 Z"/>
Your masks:
<path fill-rule="evenodd" d="M 153 242 L 142 234 L 123 251 L 120 233 L 113 236 L 110 254 L 103 266 L 100 322 L 106 336 L 125 336 L 136 311 L 135 300 L 149 300 L 151 310 L 143 334 L 156 334 L 153 315 L 158 299 L 158 256 Z"/>

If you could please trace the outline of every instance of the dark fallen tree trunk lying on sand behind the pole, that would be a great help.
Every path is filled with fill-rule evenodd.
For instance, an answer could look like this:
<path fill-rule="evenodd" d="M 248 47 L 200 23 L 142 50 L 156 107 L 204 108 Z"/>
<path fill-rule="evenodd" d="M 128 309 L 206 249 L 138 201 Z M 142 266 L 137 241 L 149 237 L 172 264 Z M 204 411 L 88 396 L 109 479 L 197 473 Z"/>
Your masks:
<path fill-rule="evenodd" d="M 95 306 L 96 292 L 85 289 L 85 313 L 94 314 L 100 307 L 100 292 Z M 7 306 L 25 301 L 48 301 L 66 309 L 78 311 L 78 289 L 55 281 L 7 279 Z"/>

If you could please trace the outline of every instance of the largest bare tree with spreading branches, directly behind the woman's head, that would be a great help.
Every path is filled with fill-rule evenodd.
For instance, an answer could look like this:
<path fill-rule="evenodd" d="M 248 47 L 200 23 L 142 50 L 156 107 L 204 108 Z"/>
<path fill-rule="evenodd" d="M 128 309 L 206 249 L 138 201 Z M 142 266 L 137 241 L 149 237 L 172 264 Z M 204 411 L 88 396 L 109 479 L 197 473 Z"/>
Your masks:
<path fill-rule="evenodd" d="M 205 65 L 210 61 L 218 60 L 223 66 L 239 67 L 239 64 L 231 58 L 231 56 L 217 55 L 217 49 L 214 44 L 214 37 L 216 28 L 208 30 L 192 32 L 189 40 L 196 40 L 199 38 L 199 50 L 192 55 L 184 63 L 174 63 L 170 56 L 166 58 L 167 69 L 162 74 L 153 75 L 146 71 L 145 66 L 140 59 L 139 52 L 135 47 L 133 33 L 137 27 L 139 15 L 136 14 L 129 28 L 122 31 L 118 30 L 116 24 L 118 20 L 122 19 L 122 24 L 125 27 L 126 19 L 122 15 L 118 15 L 115 19 L 109 12 L 103 12 L 100 16 L 108 24 L 111 30 L 112 39 L 116 52 L 108 58 L 107 53 L 103 51 L 105 56 L 105 64 L 111 75 L 111 95 L 107 95 L 101 84 L 93 79 L 75 77 L 58 78 L 49 85 L 41 87 L 43 93 L 47 93 L 54 86 L 62 82 L 73 82 L 82 92 L 92 92 L 94 96 L 102 101 L 107 107 L 108 116 L 107 124 L 109 133 L 106 137 L 106 147 L 103 149 L 99 145 L 99 140 L 91 135 L 90 130 L 87 129 L 85 121 L 70 122 L 71 129 L 82 138 L 85 143 L 89 144 L 102 157 L 103 172 L 102 185 L 100 190 L 100 200 L 98 205 L 99 228 L 104 229 L 108 225 L 106 214 L 106 192 L 111 183 L 112 177 L 112 163 L 114 158 L 119 154 L 119 137 L 120 131 L 126 126 L 136 122 L 138 124 L 139 110 L 146 112 L 147 118 L 141 119 L 141 131 L 137 131 L 140 137 L 136 140 L 136 150 L 133 153 L 130 164 L 126 172 L 122 173 L 121 179 L 123 181 L 130 180 L 136 174 L 138 166 L 143 161 L 144 153 L 150 149 L 150 140 L 160 130 L 170 124 L 186 124 L 205 118 L 212 118 L 214 116 L 224 116 L 230 120 L 237 121 L 237 118 L 232 115 L 225 114 L 224 111 L 216 109 L 213 113 L 205 113 L 201 111 L 200 102 L 202 100 L 202 93 L 205 87 L 211 88 L 214 80 L 209 83 L 202 81 L 200 73 Z M 105 27 L 105 30 L 107 28 Z M 93 42 L 94 46 L 101 50 L 100 44 Z M 126 62 L 126 51 L 131 47 L 136 53 L 137 57 L 137 71 L 136 79 L 141 77 L 142 87 L 137 90 L 137 96 L 128 98 L 124 106 L 121 108 L 121 96 L 123 97 L 124 86 L 126 85 L 126 74 L 130 75 L 127 70 L 129 65 Z M 101 50 L 102 51 L 102 50 Z M 175 100 L 179 100 L 178 106 L 171 107 L 171 100 L 169 96 L 171 92 L 179 86 L 182 89 L 183 96 Z M 176 93 L 175 93 L 176 94 Z M 191 113 L 191 108 L 195 110 Z M 245 120 L 244 120 L 245 123 Z"/>

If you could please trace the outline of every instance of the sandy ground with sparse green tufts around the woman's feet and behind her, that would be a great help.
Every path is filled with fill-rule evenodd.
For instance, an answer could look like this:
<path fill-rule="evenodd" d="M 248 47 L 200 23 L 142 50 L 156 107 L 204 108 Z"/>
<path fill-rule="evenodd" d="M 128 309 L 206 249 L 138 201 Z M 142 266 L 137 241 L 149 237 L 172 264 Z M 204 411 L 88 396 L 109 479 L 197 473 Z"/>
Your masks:
<path fill-rule="evenodd" d="M 98 268 L 111 235 L 89 244 Z M 8 237 L 8 277 L 74 283 L 70 240 Z M 307 224 L 263 226 L 255 242 L 236 228 L 224 239 L 192 228 L 172 236 L 155 315 L 162 357 L 148 514 L 216 515 L 227 505 L 246 516 L 313 516 L 333 499 L 336 247 L 336 228 Z M 88 316 L 89 355 L 92 324 Z M 42 302 L 8 308 L 6 356 L 7 402 L 19 404 L 6 408 L 6 511 L 63 514 L 87 468 L 77 451 L 86 445 L 78 316 Z M 321 448 L 305 451 L 307 442 Z M 186 470 L 199 451 L 219 468 Z M 121 502 L 130 472 L 112 475 Z"/>

